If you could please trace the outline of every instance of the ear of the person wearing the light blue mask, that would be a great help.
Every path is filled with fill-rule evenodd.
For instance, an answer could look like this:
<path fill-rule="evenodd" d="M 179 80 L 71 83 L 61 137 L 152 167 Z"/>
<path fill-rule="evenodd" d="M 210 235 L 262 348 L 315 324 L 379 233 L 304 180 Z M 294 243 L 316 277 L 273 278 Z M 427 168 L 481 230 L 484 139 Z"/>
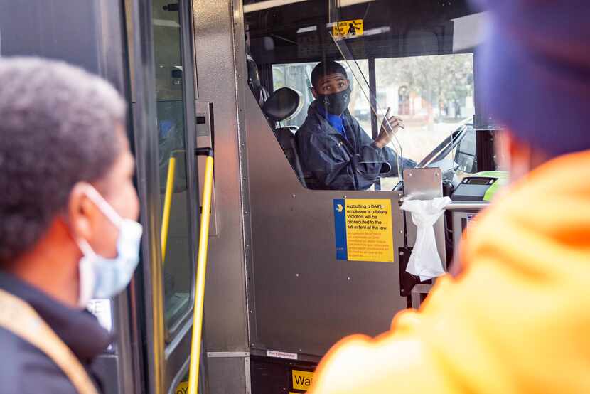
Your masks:
<path fill-rule="evenodd" d="M 87 187 L 85 183 L 76 183 L 68 199 L 68 223 L 75 241 L 92 239 L 97 215 L 100 215 L 95 203 L 85 193 Z"/>

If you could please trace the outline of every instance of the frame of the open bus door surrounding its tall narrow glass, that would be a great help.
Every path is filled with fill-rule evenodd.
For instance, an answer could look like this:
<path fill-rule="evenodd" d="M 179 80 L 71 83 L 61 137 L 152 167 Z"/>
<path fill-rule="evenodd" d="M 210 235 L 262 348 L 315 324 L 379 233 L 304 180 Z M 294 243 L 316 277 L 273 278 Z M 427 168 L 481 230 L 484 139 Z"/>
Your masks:
<path fill-rule="evenodd" d="M 183 101 L 186 151 L 195 149 L 195 60 L 192 39 L 191 5 L 189 0 L 179 0 L 181 24 L 181 56 L 183 59 Z M 137 190 L 141 201 L 141 223 L 144 225 L 141 255 L 141 276 L 136 281 L 131 302 L 141 312 L 134 316 L 139 322 L 137 338 L 144 338 L 145 363 L 140 371 L 143 379 L 141 392 L 163 394 L 176 388 L 186 371 L 191 351 L 191 326 L 195 278 L 191 279 L 191 307 L 183 317 L 166 331 L 163 304 L 163 265 L 160 240 L 160 175 L 158 130 L 153 119 L 157 117 L 154 31 L 151 1 L 132 0 L 132 34 L 134 53 L 134 144 L 138 169 Z M 197 163 L 193 154 L 186 154 L 188 188 L 187 212 L 191 215 L 189 245 L 195 261 L 198 234 L 198 186 Z M 169 335 L 168 335 L 169 334 Z M 139 362 L 139 361 L 138 361 Z M 138 387 L 139 388 L 139 387 Z"/>

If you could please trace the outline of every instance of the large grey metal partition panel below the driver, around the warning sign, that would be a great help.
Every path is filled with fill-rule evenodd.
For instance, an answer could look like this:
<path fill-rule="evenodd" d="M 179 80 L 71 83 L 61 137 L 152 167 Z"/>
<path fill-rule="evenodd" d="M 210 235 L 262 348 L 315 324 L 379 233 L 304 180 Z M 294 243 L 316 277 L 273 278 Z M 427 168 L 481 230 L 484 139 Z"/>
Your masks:
<path fill-rule="evenodd" d="M 397 253 L 394 263 L 336 260 L 333 199 L 390 198 L 397 250 L 404 244 L 399 192 L 304 188 L 253 95 L 245 96 L 254 272 L 251 346 L 322 355 L 345 335 L 387 331 L 393 314 L 406 307 L 399 296 Z"/>

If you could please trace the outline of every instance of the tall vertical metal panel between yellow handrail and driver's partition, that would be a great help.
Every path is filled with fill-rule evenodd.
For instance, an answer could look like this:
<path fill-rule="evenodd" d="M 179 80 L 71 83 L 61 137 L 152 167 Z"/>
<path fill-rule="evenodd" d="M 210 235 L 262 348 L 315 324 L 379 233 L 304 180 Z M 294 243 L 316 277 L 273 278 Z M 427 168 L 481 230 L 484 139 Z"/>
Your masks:
<path fill-rule="evenodd" d="M 237 2 L 239 3 L 239 2 Z M 239 18 L 239 17 L 238 17 Z M 205 347 L 247 351 L 242 169 L 237 133 L 235 47 L 231 0 L 193 1 L 199 101 L 213 102 L 218 236 L 210 238 L 205 289 Z M 243 45 L 243 30 L 236 33 Z M 245 54 L 241 53 L 242 57 Z M 242 378 L 243 378 L 242 365 Z M 213 380 L 211 380 L 213 381 Z M 214 388 L 211 388 L 214 390 Z M 227 391 L 227 393 L 237 393 Z"/>

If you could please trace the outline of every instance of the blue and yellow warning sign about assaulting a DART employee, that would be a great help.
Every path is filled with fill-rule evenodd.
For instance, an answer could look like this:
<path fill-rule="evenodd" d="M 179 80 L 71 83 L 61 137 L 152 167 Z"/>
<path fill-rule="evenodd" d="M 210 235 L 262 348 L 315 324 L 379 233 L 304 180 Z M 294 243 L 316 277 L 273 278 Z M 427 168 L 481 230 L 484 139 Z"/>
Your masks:
<path fill-rule="evenodd" d="M 391 200 L 336 199 L 338 260 L 393 262 Z"/>

